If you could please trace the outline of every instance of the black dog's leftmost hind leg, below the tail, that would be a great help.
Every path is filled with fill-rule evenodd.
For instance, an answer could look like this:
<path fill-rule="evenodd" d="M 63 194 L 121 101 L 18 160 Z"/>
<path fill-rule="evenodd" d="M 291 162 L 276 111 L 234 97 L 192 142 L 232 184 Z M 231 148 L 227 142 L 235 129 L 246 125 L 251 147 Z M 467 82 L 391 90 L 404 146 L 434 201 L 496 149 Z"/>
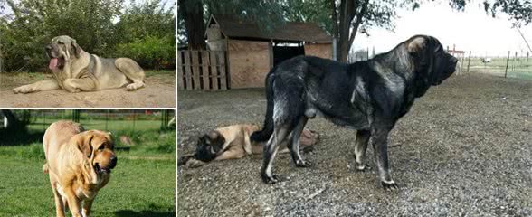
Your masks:
<path fill-rule="evenodd" d="M 279 150 L 279 144 L 286 139 L 290 132 L 289 126 L 290 125 L 275 125 L 270 140 L 268 140 L 268 143 L 264 146 L 261 177 L 262 181 L 266 184 L 275 184 L 279 181 L 277 175 L 273 175 L 271 170 L 273 167 L 273 160 Z"/>

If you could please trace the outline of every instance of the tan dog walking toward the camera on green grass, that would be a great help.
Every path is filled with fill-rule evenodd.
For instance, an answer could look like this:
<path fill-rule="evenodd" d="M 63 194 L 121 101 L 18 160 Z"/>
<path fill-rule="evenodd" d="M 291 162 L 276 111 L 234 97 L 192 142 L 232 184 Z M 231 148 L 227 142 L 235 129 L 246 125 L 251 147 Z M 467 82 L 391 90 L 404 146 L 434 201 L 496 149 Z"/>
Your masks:
<path fill-rule="evenodd" d="M 90 216 L 96 194 L 117 165 L 110 133 L 58 121 L 46 129 L 43 146 L 47 161 L 43 172 L 50 175 L 57 216 L 64 216 L 66 206 L 72 216 Z"/>

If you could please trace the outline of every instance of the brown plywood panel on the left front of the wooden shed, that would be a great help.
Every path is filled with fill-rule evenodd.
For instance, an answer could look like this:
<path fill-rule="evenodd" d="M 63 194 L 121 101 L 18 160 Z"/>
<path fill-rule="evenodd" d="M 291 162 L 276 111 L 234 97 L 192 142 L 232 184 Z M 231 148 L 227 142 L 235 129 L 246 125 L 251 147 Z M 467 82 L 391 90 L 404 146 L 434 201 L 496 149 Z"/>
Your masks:
<path fill-rule="evenodd" d="M 228 42 L 231 89 L 264 87 L 270 71 L 270 42 L 232 40 Z"/>

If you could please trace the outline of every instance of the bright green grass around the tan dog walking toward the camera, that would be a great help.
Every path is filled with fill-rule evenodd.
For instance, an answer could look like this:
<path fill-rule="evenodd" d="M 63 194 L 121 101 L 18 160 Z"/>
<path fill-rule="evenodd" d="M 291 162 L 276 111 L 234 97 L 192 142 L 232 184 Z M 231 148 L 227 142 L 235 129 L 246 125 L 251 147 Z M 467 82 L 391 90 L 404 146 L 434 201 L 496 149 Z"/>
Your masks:
<path fill-rule="evenodd" d="M 176 131 L 116 133 L 130 137 L 133 145 L 117 141 L 128 151 L 117 151 L 118 165 L 91 216 L 175 216 Z M 54 216 L 44 163 L 41 143 L 0 146 L 0 216 Z"/>

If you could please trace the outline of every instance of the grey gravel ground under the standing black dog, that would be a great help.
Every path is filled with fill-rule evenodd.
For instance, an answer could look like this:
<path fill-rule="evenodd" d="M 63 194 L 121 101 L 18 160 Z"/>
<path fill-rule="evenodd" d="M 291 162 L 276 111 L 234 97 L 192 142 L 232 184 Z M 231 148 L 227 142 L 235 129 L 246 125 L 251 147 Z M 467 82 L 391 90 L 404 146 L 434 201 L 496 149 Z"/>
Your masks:
<path fill-rule="evenodd" d="M 263 90 L 179 92 L 179 153 L 205 130 L 261 124 Z M 178 216 L 532 216 L 532 81 L 453 76 L 418 99 L 390 136 L 401 190 L 381 189 L 372 170 L 355 171 L 356 133 L 323 118 L 314 165 L 278 155 L 289 180 L 261 183 L 261 156 L 178 168 Z"/>

